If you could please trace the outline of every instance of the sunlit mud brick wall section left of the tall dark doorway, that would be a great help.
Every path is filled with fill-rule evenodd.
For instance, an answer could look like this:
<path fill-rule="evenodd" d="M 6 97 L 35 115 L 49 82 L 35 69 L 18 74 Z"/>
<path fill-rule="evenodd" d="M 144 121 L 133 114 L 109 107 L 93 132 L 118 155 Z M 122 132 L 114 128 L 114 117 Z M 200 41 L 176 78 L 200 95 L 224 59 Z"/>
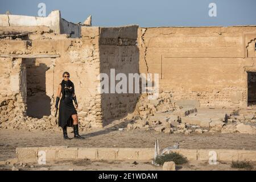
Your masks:
<path fill-rule="evenodd" d="M 26 115 L 26 69 L 22 59 L 0 58 L 0 124 Z"/>

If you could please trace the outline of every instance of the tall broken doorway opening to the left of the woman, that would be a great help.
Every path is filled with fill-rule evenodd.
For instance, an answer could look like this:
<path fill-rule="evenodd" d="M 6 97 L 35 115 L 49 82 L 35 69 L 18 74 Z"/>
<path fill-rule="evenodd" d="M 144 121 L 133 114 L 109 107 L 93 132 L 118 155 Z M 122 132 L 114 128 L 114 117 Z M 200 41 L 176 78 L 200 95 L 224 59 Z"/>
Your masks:
<path fill-rule="evenodd" d="M 51 98 L 46 94 L 46 64 L 36 59 L 23 59 L 27 72 L 27 115 L 43 118 L 51 114 Z"/>

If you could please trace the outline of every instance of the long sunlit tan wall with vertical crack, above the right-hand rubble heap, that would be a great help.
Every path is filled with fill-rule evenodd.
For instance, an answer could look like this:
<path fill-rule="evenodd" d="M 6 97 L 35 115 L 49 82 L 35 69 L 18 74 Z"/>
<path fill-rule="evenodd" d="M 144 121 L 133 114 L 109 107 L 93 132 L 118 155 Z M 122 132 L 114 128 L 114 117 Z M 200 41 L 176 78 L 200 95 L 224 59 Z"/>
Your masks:
<path fill-rule="evenodd" d="M 255 38 L 255 26 L 139 28 L 139 70 L 159 73 L 160 88 L 174 100 L 246 106 Z"/>

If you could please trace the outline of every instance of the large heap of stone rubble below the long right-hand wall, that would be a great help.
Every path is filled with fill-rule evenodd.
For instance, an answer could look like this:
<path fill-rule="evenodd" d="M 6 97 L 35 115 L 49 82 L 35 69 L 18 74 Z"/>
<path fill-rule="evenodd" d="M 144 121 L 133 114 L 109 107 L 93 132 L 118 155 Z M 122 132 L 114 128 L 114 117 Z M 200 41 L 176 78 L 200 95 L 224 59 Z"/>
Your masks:
<path fill-rule="evenodd" d="M 179 106 L 170 99 L 170 93 L 162 93 L 158 100 L 138 102 L 127 130 L 151 130 L 166 134 L 184 133 L 245 133 L 256 134 L 255 113 L 217 113 L 211 110 L 197 112 L 195 105 Z M 167 98 L 167 99 L 165 99 Z M 252 111 L 253 112 L 253 111 Z"/>

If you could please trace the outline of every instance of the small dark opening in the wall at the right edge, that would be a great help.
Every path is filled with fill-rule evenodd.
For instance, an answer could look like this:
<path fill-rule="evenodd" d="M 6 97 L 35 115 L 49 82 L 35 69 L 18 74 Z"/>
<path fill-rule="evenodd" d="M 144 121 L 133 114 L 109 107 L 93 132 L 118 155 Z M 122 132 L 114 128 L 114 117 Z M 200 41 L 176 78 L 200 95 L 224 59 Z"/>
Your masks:
<path fill-rule="evenodd" d="M 247 72 L 247 105 L 256 105 L 256 72 Z"/>

